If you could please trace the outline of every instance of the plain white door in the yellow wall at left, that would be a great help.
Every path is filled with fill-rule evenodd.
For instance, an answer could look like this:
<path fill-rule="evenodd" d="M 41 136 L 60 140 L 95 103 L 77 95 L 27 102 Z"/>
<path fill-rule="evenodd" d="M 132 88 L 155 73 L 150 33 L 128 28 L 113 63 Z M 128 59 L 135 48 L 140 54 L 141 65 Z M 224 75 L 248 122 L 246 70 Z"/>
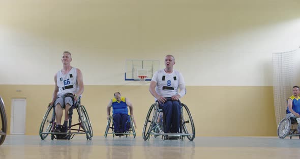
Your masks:
<path fill-rule="evenodd" d="M 25 134 L 26 99 L 12 99 L 11 134 Z"/>

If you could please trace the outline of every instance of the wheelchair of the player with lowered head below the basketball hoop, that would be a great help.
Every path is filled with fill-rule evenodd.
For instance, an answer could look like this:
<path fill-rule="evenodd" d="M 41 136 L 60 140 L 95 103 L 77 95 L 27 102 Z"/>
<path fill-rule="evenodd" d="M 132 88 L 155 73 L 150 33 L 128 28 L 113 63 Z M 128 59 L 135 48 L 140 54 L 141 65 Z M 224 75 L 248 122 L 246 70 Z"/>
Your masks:
<path fill-rule="evenodd" d="M 111 133 L 109 133 L 109 129 L 111 129 Z M 104 137 L 106 138 L 108 134 L 112 134 L 113 138 L 114 138 L 114 136 L 118 136 L 119 138 L 121 138 L 122 136 L 126 136 L 126 138 L 127 138 L 128 135 L 133 135 L 133 138 L 135 138 L 136 134 L 135 134 L 135 129 L 134 129 L 133 120 L 132 120 L 131 116 L 128 115 L 128 120 L 127 120 L 127 124 L 126 124 L 126 132 L 125 133 L 115 133 L 114 132 L 114 123 L 113 123 L 113 120 L 112 120 L 112 116 L 110 116 L 108 121 L 107 121 L 107 124 L 106 124 Z"/>

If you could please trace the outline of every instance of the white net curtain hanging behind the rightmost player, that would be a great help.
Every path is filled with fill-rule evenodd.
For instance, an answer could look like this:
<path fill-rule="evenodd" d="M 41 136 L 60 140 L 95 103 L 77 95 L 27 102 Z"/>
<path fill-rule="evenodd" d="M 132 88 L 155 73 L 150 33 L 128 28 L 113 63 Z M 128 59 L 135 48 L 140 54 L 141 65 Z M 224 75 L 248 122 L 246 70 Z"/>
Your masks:
<path fill-rule="evenodd" d="M 296 50 L 273 53 L 273 92 L 277 125 L 285 117 L 286 99 L 292 95 Z"/>

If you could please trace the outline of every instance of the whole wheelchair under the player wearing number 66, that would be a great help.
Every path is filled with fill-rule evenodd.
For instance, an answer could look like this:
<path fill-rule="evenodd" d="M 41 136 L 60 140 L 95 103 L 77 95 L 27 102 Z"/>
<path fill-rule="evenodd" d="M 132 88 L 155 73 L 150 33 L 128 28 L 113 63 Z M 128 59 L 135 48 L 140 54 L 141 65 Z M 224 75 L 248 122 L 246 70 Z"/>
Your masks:
<path fill-rule="evenodd" d="M 76 110 L 78 113 L 78 123 L 72 125 L 72 115 L 73 110 Z M 85 134 L 87 140 L 92 140 L 93 137 L 93 128 L 91 121 L 87 115 L 86 109 L 83 105 L 80 104 L 80 99 L 78 102 L 75 102 L 69 109 L 69 125 L 67 133 L 54 133 L 56 127 L 55 122 L 55 106 L 50 105 L 46 111 L 41 126 L 40 126 L 40 137 L 42 140 L 45 140 L 47 136 L 51 135 L 51 140 L 70 140 L 77 134 Z M 76 128 L 77 127 L 77 128 Z"/>

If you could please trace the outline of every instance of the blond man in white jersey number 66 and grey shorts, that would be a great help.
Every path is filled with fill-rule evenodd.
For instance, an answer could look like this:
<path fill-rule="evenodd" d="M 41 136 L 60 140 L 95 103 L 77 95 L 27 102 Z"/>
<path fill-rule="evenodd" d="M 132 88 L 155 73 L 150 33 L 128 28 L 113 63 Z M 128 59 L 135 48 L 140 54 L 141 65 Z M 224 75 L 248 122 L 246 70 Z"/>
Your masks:
<path fill-rule="evenodd" d="M 54 76 L 55 89 L 50 103 L 55 105 L 56 127 L 54 133 L 67 132 L 68 112 L 71 105 L 73 105 L 73 99 L 76 102 L 84 90 L 82 73 L 78 68 L 70 65 L 71 61 L 71 53 L 64 51 L 62 57 L 63 69 L 59 70 Z M 63 108 L 65 108 L 65 121 L 62 125 Z"/>

